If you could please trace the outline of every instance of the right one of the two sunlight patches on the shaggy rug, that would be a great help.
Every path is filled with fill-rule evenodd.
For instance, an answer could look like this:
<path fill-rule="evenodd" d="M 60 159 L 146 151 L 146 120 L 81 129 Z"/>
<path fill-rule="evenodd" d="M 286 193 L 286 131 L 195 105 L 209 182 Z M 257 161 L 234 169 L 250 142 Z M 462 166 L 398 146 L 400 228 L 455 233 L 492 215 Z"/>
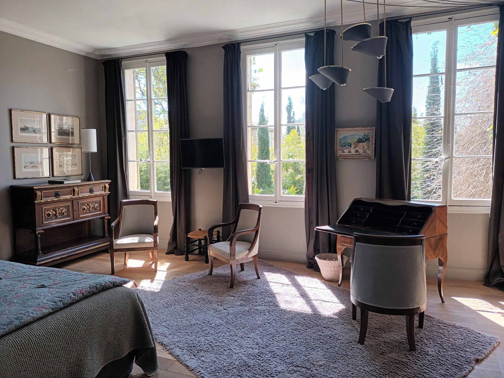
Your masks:
<path fill-rule="evenodd" d="M 302 276 L 297 276 L 296 280 L 322 315 L 331 316 L 345 308 L 324 282 L 317 278 Z"/>

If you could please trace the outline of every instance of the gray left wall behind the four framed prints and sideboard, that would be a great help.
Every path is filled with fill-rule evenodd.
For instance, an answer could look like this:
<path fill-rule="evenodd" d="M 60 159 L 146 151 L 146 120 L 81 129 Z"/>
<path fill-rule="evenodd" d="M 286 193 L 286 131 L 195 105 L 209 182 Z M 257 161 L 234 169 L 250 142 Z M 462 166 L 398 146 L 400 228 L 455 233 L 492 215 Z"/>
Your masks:
<path fill-rule="evenodd" d="M 84 129 L 100 128 L 98 61 L 0 32 L 0 259 L 12 256 L 9 186 L 47 182 L 47 178 L 14 179 L 9 109 L 78 115 Z M 39 145 L 53 146 L 53 145 Z M 59 145 L 61 146 L 61 145 Z M 101 178 L 101 153 L 93 155 L 93 173 Z M 85 177 L 89 160 L 83 158 Z"/>

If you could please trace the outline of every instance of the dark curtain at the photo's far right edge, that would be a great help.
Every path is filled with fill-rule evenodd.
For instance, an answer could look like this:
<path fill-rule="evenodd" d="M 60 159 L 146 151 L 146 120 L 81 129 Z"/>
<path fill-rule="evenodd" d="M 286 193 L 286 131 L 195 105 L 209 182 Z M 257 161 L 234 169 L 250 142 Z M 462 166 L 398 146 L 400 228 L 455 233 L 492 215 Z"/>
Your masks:
<path fill-rule="evenodd" d="M 493 107 L 493 177 L 488 229 L 486 286 L 504 290 L 504 6 L 499 5 L 495 99 Z"/>

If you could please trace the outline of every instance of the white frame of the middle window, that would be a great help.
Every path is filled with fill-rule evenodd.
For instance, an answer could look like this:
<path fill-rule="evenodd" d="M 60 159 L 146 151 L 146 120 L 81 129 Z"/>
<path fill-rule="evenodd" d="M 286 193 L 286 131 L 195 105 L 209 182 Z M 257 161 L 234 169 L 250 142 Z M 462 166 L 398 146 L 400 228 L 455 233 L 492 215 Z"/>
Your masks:
<path fill-rule="evenodd" d="M 263 43 L 263 44 L 254 44 L 254 45 L 245 45 L 241 47 L 241 54 L 242 54 L 242 61 L 241 61 L 241 69 L 242 69 L 242 87 L 243 87 L 243 114 L 244 116 L 244 124 L 243 128 L 245 129 L 245 137 L 247 139 L 247 151 L 246 151 L 246 156 L 247 156 L 247 181 L 248 181 L 248 191 L 249 191 L 249 199 L 251 201 L 254 201 L 256 203 L 266 205 L 266 206 L 280 206 L 280 207 L 304 207 L 304 195 L 303 196 L 285 196 L 282 194 L 282 183 L 281 183 L 281 164 L 284 160 L 282 160 L 281 156 L 281 143 L 282 143 L 282 83 L 281 83 L 281 67 L 282 67 L 282 51 L 288 51 L 288 50 L 296 50 L 296 49 L 304 49 L 304 39 L 303 38 L 297 38 L 294 40 L 288 40 L 288 41 L 280 41 L 280 42 L 270 42 L 270 43 Z M 249 156 L 249 151 L 250 151 L 250 141 L 248 140 L 248 124 L 247 124 L 247 75 L 248 75 L 248 67 L 247 67 L 247 56 L 248 55 L 260 55 L 260 54 L 267 54 L 267 53 L 274 53 L 274 66 L 275 66 L 275 73 L 274 73 L 274 98 L 275 98 L 275 109 L 274 109 L 274 123 L 273 123 L 273 130 L 274 130 L 274 139 L 275 139 L 275 146 L 274 146 L 274 158 L 272 161 L 265 161 L 265 162 L 271 162 L 271 164 L 275 165 L 275 170 L 274 170 L 274 194 L 273 195 L 254 195 L 250 194 L 251 192 L 251 177 L 250 177 L 250 170 L 248 169 L 249 163 L 252 161 Z M 299 87 L 286 87 L 288 89 L 291 88 L 305 88 L 306 86 L 299 86 Z M 261 90 L 255 91 L 259 92 Z M 271 91 L 271 89 L 265 90 L 265 91 Z M 293 123 L 294 125 L 297 125 L 297 123 Z M 271 125 L 269 126 L 271 127 Z M 254 162 L 261 161 L 261 160 L 254 160 Z M 287 162 L 296 162 L 296 161 L 302 161 L 306 162 L 306 160 L 285 160 Z"/>

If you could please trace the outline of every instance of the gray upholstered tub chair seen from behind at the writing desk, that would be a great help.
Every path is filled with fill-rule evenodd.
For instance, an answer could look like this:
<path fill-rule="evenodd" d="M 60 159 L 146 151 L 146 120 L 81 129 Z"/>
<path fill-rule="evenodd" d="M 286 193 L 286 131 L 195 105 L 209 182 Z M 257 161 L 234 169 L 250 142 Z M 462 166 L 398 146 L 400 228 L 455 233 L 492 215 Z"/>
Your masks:
<path fill-rule="evenodd" d="M 406 317 L 410 351 L 415 351 L 415 314 L 423 328 L 427 303 L 425 237 L 354 235 L 350 299 L 352 318 L 360 308 L 359 344 L 364 344 L 368 311 Z"/>

